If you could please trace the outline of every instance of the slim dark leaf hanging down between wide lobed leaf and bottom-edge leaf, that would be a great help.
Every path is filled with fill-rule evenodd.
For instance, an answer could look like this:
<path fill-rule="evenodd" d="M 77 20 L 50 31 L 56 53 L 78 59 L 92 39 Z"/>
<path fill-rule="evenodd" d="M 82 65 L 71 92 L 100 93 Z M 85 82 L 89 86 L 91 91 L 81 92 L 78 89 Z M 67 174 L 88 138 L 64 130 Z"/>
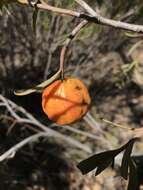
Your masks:
<path fill-rule="evenodd" d="M 126 180 L 128 179 L 129 162 L 130 162 L 131 152 L 133 149 L 134 142 L 135 140 L 130 141 L 130 143 L 128 144 L 124 152 L 123 159 L 122 159 L 121 176 Z"/>

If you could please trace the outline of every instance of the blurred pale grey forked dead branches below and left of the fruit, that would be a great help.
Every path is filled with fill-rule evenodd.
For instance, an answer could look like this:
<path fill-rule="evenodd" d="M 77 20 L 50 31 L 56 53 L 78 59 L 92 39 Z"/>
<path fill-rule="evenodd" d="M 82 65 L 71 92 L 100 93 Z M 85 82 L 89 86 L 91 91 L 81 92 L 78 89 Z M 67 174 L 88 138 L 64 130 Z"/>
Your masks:
<path fill-rule="evenodd" d="M 34 116 L 32 116 L 30 113 L 28 113 L 23 107 L 18 106 L 16 103 L 5 98 L 1 94 L 0 94 L 0 103 L 1 103 L 0 105 L 2 107 L 5 107 L 8 110 L 8 112 L 10 113 L 10 115 L 12 116 L 12 118 L 14 119 L 14 121 L 16 123 L 30 124 L 30 125 L 36 126 L 37 128 L 40 129 L 40 131 L 35 131 L 35 132 L 37 132 L 36 134 L 25 138 L 24 140 L 22 140 L 21 142 L 14 145 L 9 150 L 7 150 L 5 153 L 0 155 L 0 162 L 5 160 L 5 159 L 13 158 L 15 153 L 20 148 L 22 148 L 23 146 L 27 145 L 30 142 L 36 141 L 39 137 L 54 137 L 56 139 L 59 138 L 62 141 L 67 142 L 69 145 L 72 145 L 77 149 L 83 150 L 84 152 L 87 152 L 87 153 L 92 152 L 91 149 L 89 148 L 89 146 L 87 146 L 83 143 L 80 143 L 79 141 L 73 139 L 72 137 L 66 136 L 66 135 L 61 134 L 60 132 L 57 132 L 54 129 L 52 129 L 53 127 L 57 126 L 56 124 L 52 124 L 49 126 L 42 124 Z M 23 117 L 21 117 L 21 113 L 22 113 Z M 88 114 L 88 117 L 89 117 L 89 115 L 90 114 Z M 90 120 L 91 118 L 88 118 L 88 119 Z M 92 123 L 88 123 L 88 124 L 93 126 L 95 123 L 93 123 L 93 121 L 92 121 Z M 96 125 L 95 125 L 94 129 L 96 128 Z M 100 134 L 97 135 L 97 134 L 91 134 L 89 132 L 84 132 L 84 131 L 81 131 L 79 129 L 75 129 L 75 128 L 72 128 L 70 126 L 58 126 L 58 127 L 63 127 L 64 129 L 69 130 L 73 133 L 77 133 L 79 135 L 86 136 L 86 137 L 91 138 L 93 140 L 100 141 L 104 147 L 112 148 L 111 144 L 102 135 L 101 130 L 99 131 Z M 96 132 L 98 132 L 98 127 L 97 127 Z"/>

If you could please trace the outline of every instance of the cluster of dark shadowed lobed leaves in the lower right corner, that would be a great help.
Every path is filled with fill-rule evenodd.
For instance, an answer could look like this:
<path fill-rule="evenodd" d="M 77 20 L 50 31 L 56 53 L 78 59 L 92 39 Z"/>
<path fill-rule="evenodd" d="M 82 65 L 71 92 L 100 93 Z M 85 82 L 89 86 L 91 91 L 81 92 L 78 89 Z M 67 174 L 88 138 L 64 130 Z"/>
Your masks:
<path fill-rule="evenodd" d="M 99 175 L 107 167 L 113 166 L 115 157 L 124 151 L 121 162 L 120 175 L 125 180 L 129 179 L 128 190 L 135 190 L 137 187 L 137 169 L 134 160 L 131 157 L 134 143 L 138 138 L 129 140 L 125 145 L 118 149 L 109 150 L 95 154 L 83 161 L 81 161 L 77 167 L 80 169 L 82 174 L 87 174 L 90 171 L 96 169 L 95 176 Z"/>

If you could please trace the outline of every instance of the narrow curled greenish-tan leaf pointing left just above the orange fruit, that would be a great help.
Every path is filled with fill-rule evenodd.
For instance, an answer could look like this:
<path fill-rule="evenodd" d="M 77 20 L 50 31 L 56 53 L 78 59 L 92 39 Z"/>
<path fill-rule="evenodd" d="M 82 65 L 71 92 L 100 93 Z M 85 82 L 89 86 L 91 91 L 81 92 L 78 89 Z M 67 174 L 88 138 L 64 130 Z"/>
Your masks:
<path fill-rule="evenodd" d="M 55 73 L 50 79 L 38 84 L 37 86 L 27 89 L 27 90 L 17 90 L 14 92 L 17 96 L 25 96 L 34 92 L 41 92 L 45 87 L 50 85 L 53 81 L 59 78 L 61 71 L 59 70 L 57 73 Z"/>

